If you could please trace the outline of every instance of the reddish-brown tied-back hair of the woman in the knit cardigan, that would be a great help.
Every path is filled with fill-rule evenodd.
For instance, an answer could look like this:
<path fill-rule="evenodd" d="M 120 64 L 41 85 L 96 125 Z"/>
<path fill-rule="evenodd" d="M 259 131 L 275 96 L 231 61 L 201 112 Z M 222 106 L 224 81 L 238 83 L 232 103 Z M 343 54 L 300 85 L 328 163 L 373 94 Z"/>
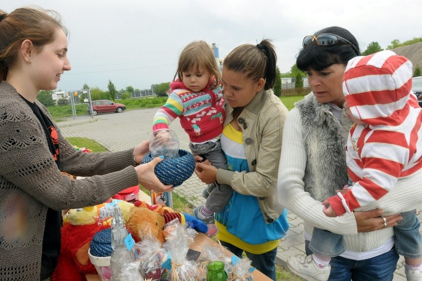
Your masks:
<path fill-rule="evenodd" d="M 0 10 L 0 81 L 16 63 L 18 50 L 25 40 L 31 40 L 35 48 L 54 41 L 57 28 L 68 36 L 69 32 L 61 23 L 60 15 L 53 10 L 38 7 L 23 7 L 6 14 Z"/>

